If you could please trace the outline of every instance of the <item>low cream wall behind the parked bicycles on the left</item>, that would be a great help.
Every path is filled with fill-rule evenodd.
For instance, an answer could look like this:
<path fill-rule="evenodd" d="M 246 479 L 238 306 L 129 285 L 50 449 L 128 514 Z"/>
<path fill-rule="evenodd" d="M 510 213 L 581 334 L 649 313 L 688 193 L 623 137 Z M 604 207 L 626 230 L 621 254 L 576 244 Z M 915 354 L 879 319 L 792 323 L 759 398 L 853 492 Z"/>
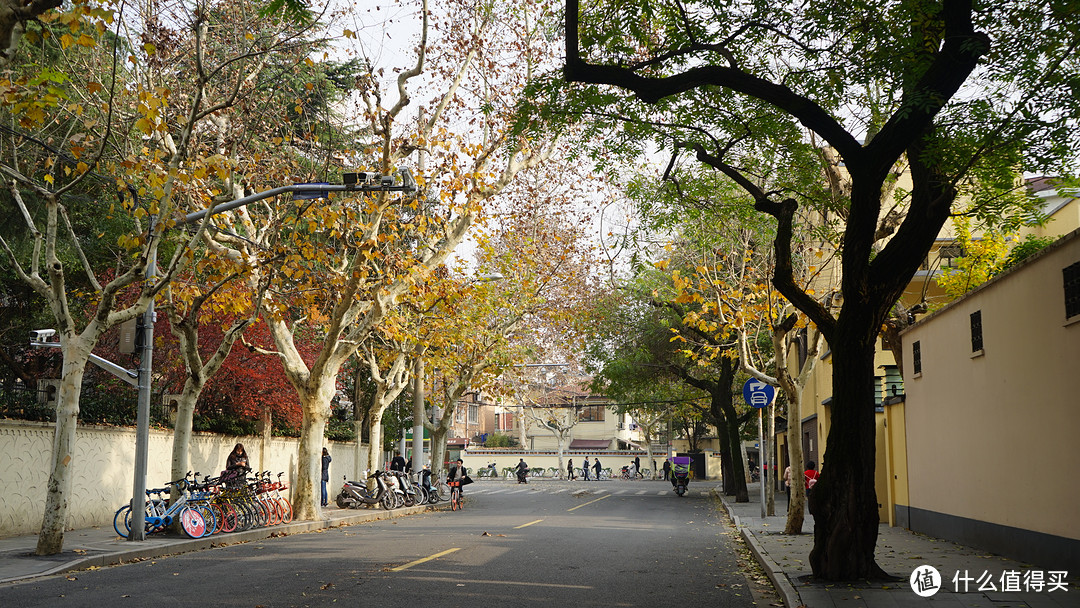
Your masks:
<path fill-rule="evenodd" d="M 0 421 L 0 537 L 36 533 L 41 527 L 49 482 L 54 427 L 43 422 Z M 191 440 L 191 468 L 217 474 L 225 468 L 237 442 L 244 444 L 260 470 L 284 471 L 292 486 L 296 478 L 299 441 L 273 438 L 261 455 L 260 437 L 226 437 L 197 433 Z M 328 491 L 340 489 L 340 479 L 352 474 L 355 444 L 327 442 L 334 459 Z M 170 479 L 173 434 L 150 431 L 147 487 Z M 116 427 L 81 427 L 72 459 L 75 482 L 68 528 L 111 526 L 112 514 L 131 500 L 135 468 L 135 431 Z"/>

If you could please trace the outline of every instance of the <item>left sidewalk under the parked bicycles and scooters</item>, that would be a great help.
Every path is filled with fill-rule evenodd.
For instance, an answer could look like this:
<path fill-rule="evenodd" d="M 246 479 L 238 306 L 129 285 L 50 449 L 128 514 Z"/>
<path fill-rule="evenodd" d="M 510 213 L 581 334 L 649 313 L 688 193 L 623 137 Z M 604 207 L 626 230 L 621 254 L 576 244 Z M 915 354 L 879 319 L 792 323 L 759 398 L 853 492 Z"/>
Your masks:
<path fill-rule="evenodd" d="M 292 524 L 244 532 L 214 535 L 200 539 L 190 539 L 185 536 L 150 535 L 145 541 L 129 541 L 118 537 L 112 526 L 68 530 L 64 535 L 64 552 L 50 556 L 33 554 L 33 550 L 38 545 L 37 535 L 0 538 L 0 584 L 95 566 L 109 566 L 189 551 L 202 551 L 222 544 L 403 517 L 438 509 L 446 504 L 448 503 L 407 506 L 393 511 L 382 509 L 349 510 L 330 505 L 323 509 L 323 519 L 316 522 L 293 522 Z"/>

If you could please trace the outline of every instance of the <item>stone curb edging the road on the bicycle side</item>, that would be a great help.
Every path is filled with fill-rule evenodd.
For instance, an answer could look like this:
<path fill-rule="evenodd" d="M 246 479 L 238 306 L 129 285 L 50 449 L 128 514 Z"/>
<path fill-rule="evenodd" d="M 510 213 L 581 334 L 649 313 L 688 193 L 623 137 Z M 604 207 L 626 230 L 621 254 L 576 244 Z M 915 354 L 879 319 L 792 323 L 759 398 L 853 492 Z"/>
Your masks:
<path fill-rule="evenodd" d="M 243 532 L 230 532 L 221 536 L 177 540 L 175 542 L 168 542 L 166 544 L 156 544 L 153 546 L 133 548 L 130 550 L 125 549 L 123 551 L 113 551 L 111 553 L 102 553 L 98 555 L 80 557 L 78 559 L 72 559 L 70 562 L 60 564 L 59 566 L 56 566 L 54 568 L 50 568 L 49 570 L 36 572 L 30 576 L 2 579 L 0 580 L 0 584 L 26 581 L 30 579 L 36 579 L 38 577 L 48 577 L 51 575 L 60 575 L 64 572 L 70 572 L 72 570 L 84 570 L 86 568 L 114 566 L 123 564 L 125 562 L 151 559 L 154 557 L 163 557 L 165 555 L 179 555 L 181 553 L 190 553 L 192 551 L 205 551 L 207 549 L 216 549 L 218 546 L 239 544 L 243 542 L 253 542 L 269 538 L 298 535 L 315 530 L 324 530 L 328 528 L 339 528 L 341 526 L 350 526 L 353 524 L 364 524 L 367 522 L 378 522 L 380 519 L 393 519 L 396 517 L 406 517 L 408 515 L 416 515 L 418 513 L 424 513 L 428 511 L 437 511 L 437 510 L 438 510 L 437 505 L 426 504 L 422 506 L 405 506 L 401 509 L 394 509 L 392 511 L 382 511 L 382 510 L 367 511 L 363 513 L 356 513 L 354 515 L 346 515 L 343 517 L 335 517 L 335 518 L 324 517 L 322 519 L 315 519 L 310 522 L 294 522 L 273 527 L 245 530 Z"/>

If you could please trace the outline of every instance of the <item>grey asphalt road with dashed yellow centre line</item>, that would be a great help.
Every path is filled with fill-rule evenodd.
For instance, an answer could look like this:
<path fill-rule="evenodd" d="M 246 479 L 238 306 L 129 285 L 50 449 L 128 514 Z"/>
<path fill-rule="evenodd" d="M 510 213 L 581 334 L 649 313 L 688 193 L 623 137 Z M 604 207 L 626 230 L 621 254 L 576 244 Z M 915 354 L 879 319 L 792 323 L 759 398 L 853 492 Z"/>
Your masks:
<path fill-rule="evenodd" d="M 603 491 L 600 491 L 603 490 Z M 449 510 L 0 587 L 0 607 L 779 605 L 707 496 L 478 482 Z"/>

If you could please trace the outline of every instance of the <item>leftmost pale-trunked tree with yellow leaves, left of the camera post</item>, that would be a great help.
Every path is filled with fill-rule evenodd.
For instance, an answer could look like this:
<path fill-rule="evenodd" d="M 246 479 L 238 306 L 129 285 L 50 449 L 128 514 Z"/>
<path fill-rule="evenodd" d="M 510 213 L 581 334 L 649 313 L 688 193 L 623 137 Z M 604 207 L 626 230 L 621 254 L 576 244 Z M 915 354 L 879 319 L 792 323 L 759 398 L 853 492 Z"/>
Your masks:
<path fill-rule="evenodd" d="M 0 248 L 52 312 L 64 356 L 40 554 L 63 549 L 79 390 L 91 351 L 109 327 L 141 314 L 190 262 L 205 222 L 171 244 L 164 268 L 146 276 L 177 214 L 215 202 L 227 168 L 224 157 L 207 153 L 207 124 L 252 93 L 247 77 L 261 62 L 300 45 L 296 30 L 281 24 L 276 36 L 235 44 L 234 37 L 245 40 L 260 29 L 253 22 L 272 19 L 256 11 L 230 21 L 231 27 L 211 28 L 207 5 L 174 9 L 78 0 L 38 13 L 22 36 L 30 60 L 0 80 L 3 123 L 12 125 L 4 137 L 13 144 L 4 148 L 0 173 L 29 232 L 16 246 L 0 240 Z M 164 23 L 190 28 L 180 36 Z M 168 46 L 156 43 L 162 38 Z M 230 43 L 215 45 L 220 40 Z M 192 69 L 183 70 L 163 56 L 166 51 Z M 90 226 L 97 228 L 93 234 Z M 86 310 L 72 306 L 69 265 L 83 275 Z M 119 268 L 107 283 L 98 280 L 103 266 Z M 125 289 L 137 292 L 130 306 L 119 303 Z"/>

